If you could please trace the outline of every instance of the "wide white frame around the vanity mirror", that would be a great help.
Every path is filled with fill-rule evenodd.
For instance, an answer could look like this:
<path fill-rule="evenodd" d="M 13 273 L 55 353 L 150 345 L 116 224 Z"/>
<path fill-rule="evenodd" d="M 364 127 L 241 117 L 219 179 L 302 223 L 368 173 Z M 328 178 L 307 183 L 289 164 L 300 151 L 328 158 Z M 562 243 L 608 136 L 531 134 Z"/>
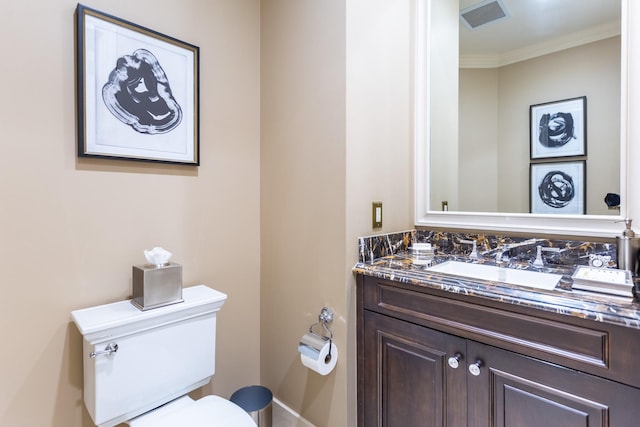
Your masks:
<path fill-rule="evenodd" d="M 634 64 L 632 38 L 638 38 L 630 25 L 633 17 L 640 21 L 640 5 L 630 5 L 621 0 L 621 81 L 620 81 L 620 211 L 617 215 L 552 215 L 530 213 L 487 213 L 487 212 L 442 212 L 429 209 L 430 200 L 430 63 L 428 48 L 431 41 L 429 18 L 431 3 L 434 0 L 416 0 L 415 11 L 415 69 L 414 69 L 414 207 L 415 225 L 419 227 L 438 227 L 454 229 L 482 229 L 506 232 L 525 232 L 536 234 L 561 234 L 578 236 L 612 237 L 624 229 L 623 219 L 631 215 L 631 189 L 634 182 L 633 171 L 627 167 L 629 158 L 637 153 L 631 144 L 633 94 L 638 92 L 632 80 Z M 640 2 L 637 2 L 640 3 Z M 640 46 L 640 39 L 635 43 Z M 638 61 L 636 61 L 638 62 Z M 635 65 L 635 66 L 634 66 Z M 640 130 L 640 126 L 638 130 Z M 633 153 L 636 151 L 636 153 Z M 640 159 L 640 157 L 638 157 Z M 637 168 L 640 169 L 640 168 Z M 640 172 L 635 174 L 640 178 Z M 640 218 L 638 218 L 640 224 Z"/>

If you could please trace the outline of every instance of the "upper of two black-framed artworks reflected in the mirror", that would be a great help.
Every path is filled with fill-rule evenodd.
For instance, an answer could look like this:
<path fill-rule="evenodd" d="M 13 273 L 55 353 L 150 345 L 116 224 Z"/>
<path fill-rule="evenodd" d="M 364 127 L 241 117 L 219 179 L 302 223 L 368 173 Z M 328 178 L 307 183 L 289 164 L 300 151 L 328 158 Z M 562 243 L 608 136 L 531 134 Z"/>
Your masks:
<path fill-rule="evenodd" d="M 531 160 L 587 155 L 587 97 L 529 107 Z"/>

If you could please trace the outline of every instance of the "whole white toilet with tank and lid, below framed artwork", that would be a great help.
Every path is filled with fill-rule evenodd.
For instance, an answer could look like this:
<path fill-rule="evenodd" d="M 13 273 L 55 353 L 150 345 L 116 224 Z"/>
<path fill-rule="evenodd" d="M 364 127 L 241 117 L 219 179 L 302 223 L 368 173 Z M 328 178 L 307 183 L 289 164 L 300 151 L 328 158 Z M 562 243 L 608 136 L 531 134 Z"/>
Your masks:
<path fill-rule="evenodd" d="M 182 296 L 148 311 L 126 300 L 71 313 L 84 337 L 84 402 L 97 426 L 256 426 L 226 399 L 187 396 L 215 372 L 216 314 L 227 296 L 204 285 Z"/>

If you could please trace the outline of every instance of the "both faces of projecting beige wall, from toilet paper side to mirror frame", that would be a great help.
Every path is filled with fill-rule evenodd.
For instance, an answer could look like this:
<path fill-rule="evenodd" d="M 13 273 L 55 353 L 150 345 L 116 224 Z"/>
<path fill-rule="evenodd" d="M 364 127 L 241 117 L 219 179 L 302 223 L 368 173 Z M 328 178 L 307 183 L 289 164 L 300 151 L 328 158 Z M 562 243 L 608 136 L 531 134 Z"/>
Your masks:
<path fill-rule="evenodd" d="M 318 426 L 355 425 L 357 237 L 411 227 L 412 1 L 262 1 L 265 385 Z M 326 377 L 295 351 L 323 305 L 340 350 Z"/>

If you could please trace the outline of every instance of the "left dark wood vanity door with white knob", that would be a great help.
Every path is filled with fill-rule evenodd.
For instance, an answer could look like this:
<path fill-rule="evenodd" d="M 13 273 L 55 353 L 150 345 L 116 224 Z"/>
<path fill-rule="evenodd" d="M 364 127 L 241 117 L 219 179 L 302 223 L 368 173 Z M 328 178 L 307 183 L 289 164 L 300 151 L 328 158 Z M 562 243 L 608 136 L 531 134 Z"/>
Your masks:
<path fill-rule="evenodd" d="M 466 341 L 369 311 L 363 320 L 359 425 L 466 427 Z"/>

